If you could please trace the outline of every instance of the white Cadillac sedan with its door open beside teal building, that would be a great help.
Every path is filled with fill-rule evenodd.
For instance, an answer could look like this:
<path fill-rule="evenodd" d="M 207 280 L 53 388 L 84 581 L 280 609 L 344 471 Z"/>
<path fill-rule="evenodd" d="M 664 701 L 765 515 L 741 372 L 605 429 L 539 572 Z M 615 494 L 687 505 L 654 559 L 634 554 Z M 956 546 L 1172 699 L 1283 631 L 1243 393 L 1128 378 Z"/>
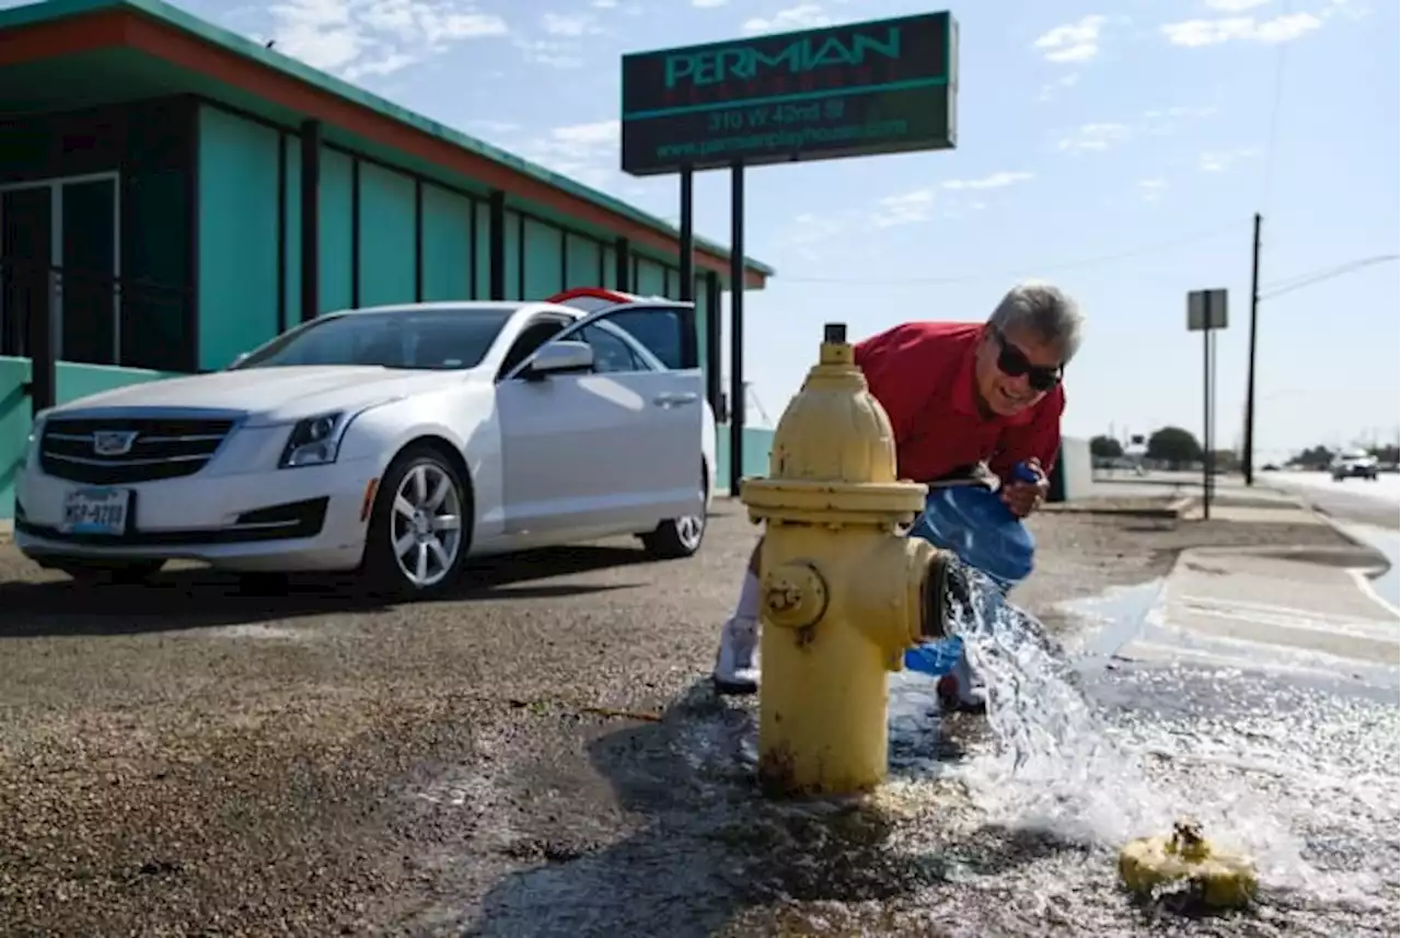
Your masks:
<path fill-rule="evenodd" d="M 693 322 L 607 290 L 328 314 L 39 414 L 15 543 L 78 578 L 192 559 L 409 596 L 471 554 L 633 533 L 686 557 L 715 479 Z"/>

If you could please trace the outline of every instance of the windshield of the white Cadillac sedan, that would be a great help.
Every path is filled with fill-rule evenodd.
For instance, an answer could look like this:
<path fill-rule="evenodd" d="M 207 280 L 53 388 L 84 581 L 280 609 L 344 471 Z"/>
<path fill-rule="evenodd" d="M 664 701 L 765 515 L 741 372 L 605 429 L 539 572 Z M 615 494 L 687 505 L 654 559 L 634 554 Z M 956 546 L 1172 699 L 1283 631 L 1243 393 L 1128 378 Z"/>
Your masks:
<path fill-rule="evenodd" d="M 233 368 L 474 368 L 482 363 L 513 312 L 492 307 L 458 307 L 338 314 L 273 339 Z"/>

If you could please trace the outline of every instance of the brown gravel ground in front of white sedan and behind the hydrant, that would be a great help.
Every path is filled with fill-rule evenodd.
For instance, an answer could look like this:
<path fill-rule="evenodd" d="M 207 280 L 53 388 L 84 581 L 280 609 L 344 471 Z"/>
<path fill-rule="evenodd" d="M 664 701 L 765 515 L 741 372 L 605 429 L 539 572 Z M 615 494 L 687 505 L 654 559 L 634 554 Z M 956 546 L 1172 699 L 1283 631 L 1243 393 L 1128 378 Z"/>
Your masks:
<path fill-rule="evenodd" d="M 1035 532 L 1016 599 L 1052 629 L 1055 603 L 1184 547 L 1339 543 L 1069 514 Z M 929 871 L 888 861 L 867 813 L 761 818 L 726 755 L 752 714 L 703 679 L 752 536 L 723 504 L 689 561 L 542 552 L 382 609 L 192 570 L 80 591 L 0 546 L 3 934 L 779 935 L 792 902 L 883 934 L 883 899 Z"/>

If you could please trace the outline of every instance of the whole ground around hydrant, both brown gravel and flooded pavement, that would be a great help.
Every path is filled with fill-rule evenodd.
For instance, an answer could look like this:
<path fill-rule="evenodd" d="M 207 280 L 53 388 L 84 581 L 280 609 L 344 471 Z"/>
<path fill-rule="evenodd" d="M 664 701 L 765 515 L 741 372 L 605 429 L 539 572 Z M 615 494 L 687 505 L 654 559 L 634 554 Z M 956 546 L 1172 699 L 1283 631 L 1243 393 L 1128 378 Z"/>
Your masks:
<path fill-rule="evenodd" d="M 196 571 L 84 594 L 0 553 L 0 921 L 25 935 L 1390 934 L 1401 727 L 1359 682 L 1101 655 L 1073 676 L 1093 707 L 1065 757 L 1009 780 L 985 721 L 934 720 L 929 682 L 898 676 L 891 784 L 762 799 L 754 703 L 705 680 L 752 543 L 722 512 L 691 561 L 639 563 L 628 542 L 544 552 L 476 564 L 444 602 L 382 609 L 324 584 L 237 595 Z M 1037 536 L 1041 567 L 1016 598 L 1076 655 L 1117 647 L 1105 626 L 1132 631 L 1182 547 L 1344 543 L 1317 525 L 1089 517 L 1038 519 Z M 1128 591 L 1100 619 L 1058 608 L 1114 585 Z M 1037 693 L 1033 714 L 1079 713 L 1069 686 Z M 1259 848 L 1259 910 L 1199 920 L 1118 888 L 1124 837 L 1187 808 Z"/>

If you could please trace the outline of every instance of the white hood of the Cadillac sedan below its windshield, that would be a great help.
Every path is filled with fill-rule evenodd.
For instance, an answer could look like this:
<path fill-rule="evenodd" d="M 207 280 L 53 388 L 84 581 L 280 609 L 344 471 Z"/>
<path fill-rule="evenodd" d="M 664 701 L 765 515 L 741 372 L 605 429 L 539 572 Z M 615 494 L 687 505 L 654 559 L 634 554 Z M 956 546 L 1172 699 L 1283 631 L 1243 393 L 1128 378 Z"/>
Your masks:
<path fill-rule="evenodd" d="M 95 407 L 234 410 L 251 424 L 287 423 L 353 410 L 458 385 L 471 372 L 399 371 L 370 365 L 244 368 L 127 385 L 56 407 L 55 416 Z"/>

